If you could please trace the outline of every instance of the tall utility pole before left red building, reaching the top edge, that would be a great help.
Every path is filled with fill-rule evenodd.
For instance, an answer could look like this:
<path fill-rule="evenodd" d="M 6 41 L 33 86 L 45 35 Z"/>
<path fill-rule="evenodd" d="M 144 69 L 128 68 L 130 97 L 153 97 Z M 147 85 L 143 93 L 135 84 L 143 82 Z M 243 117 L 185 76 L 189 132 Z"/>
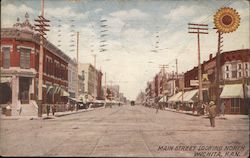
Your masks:
<path fill-rule="evenodd" d="M 44 0 L 41 0 L 41 15 L 35 20 L 37 24 L 35 29 L 40 34 L 40 52 L 39 52 L 39 74 L 38 74 L 38 117 L 42 117 L 42 99 L 43 99 L 43 46 L 44 46 L 44 36 L 45 31 L 49 31 L 46 27 L 49 27 L 46 22 L 49 20 L 44 18 Z"/>

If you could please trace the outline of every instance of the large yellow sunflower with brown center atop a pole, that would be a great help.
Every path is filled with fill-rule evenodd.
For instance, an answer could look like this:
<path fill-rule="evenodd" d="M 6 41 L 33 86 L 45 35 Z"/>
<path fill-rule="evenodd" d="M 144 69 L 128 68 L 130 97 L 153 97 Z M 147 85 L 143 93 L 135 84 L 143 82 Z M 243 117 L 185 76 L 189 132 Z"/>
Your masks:
<path fill-rule="evenodd" d="M 221 8 L 214 15 L 214 24 L 222 33 L 233 32 L 240 25 L 240 15 L 233 8 Z"/>

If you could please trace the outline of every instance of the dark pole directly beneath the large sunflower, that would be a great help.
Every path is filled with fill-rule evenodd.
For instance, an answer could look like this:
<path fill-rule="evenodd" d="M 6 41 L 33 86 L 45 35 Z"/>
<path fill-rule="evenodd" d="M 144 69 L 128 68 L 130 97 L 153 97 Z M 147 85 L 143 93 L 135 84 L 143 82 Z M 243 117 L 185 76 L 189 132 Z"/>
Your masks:
<path fill-rule="evenodd" d="M 217 110 L 220 108 L 220 54 L 222 52 L 222 32 L 217 30 L 218 33 L 218 47 L 217 47 L 217 53 L 216 53 L 216 75 L 215 75 L 215 85 L 216 85 L 216 105 L 217 105 Z"/>

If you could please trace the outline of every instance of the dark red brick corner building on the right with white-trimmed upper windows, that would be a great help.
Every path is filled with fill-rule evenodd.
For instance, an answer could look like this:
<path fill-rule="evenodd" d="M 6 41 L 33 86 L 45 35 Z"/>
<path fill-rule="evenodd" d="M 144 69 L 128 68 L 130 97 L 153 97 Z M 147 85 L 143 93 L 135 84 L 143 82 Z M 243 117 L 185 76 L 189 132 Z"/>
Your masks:
<path fill-rule="evenodd" d="M 250 84 L 250 49 L 223 52 L 220 55 L 220 98 L 226 103 L 226 113 L 247 114 Z M 202 66 L 202 87 L 208 100 L 216 100 L 216 56 L 212 54 Z M 198 69 L 194 67 L 185 73 L 185 87 L 192 87 L 191 80 L 198 79 Z M 193 87 L 194 88 L 194 87 Z"/>

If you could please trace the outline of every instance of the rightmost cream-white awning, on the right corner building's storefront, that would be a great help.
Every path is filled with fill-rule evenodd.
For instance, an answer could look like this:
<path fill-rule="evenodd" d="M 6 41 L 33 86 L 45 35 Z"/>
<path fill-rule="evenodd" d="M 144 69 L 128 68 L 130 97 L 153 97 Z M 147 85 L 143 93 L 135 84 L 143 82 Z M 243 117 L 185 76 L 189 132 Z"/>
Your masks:
<path fill-rule="evenodd" d="M 244 98 L 242 84 L 225 85 L 220 98 Z"/>

